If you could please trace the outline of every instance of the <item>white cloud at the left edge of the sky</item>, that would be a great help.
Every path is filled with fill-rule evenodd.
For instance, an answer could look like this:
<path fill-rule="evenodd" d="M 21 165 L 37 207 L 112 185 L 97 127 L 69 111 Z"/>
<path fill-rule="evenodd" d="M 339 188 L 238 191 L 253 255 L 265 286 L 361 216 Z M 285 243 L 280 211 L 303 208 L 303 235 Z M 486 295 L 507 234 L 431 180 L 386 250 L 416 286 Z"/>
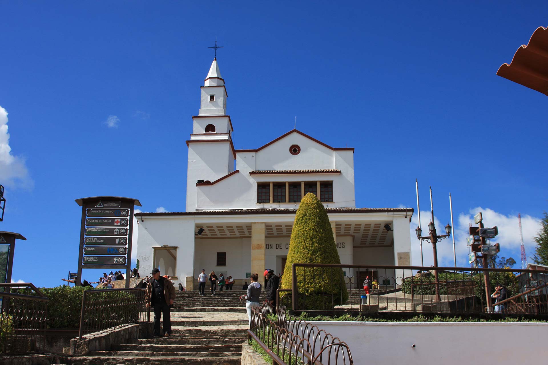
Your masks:
<path fill-rule="evenodd" d="M 30 189 L 33 181 L 28 175 L 25 159 L 14 156 L 9 147 L 8 112 L 0 106 L 0 177 L 5 186 Z"/>

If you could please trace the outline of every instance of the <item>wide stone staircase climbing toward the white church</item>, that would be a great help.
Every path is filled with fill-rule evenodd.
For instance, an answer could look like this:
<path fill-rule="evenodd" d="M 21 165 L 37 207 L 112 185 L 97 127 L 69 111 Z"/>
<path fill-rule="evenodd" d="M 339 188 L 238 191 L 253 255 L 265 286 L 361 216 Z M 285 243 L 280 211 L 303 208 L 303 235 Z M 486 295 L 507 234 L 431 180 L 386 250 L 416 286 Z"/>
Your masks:
<path fill-rule="evenodd" d="M 61 357 L 74 365 L 236 365 L 241 363 L 242 344 L 247 339 L 243 291 L 216 292 L 200 296 L 198 291 L 177 292 L 172 309 L 173 334 L 168 338 L 138 339 L 113 345 L 109 351 L 87 356 Z M 264 294 L 263 294 L 264 296 Z M 152 320 L 152 316 L 151 316 Z"/>

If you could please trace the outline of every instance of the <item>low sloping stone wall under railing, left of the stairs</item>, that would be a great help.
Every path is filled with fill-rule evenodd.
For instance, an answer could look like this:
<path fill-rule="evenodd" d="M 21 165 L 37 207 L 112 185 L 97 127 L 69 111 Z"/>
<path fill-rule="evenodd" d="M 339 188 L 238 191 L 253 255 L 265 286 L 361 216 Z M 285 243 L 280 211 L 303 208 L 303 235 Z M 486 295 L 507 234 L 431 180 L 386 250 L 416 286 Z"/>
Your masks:
<path fill-rule="evenodd" d="M 147 338 L 152 334 L 152 322 L 136 323 L 104 331 L 89 333 L 82 340 L 70 341 L 71 355 L 87 355 L 92 351 L 109 351 L 112 345 L 127 344 L 132 340 Z"/>

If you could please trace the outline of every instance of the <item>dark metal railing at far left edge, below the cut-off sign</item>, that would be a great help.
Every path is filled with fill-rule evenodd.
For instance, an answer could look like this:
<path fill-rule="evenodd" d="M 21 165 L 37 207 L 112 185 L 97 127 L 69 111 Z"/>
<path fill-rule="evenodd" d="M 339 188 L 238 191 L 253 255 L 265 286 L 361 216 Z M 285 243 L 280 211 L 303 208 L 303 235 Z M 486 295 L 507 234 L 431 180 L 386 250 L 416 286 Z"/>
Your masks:
<path fill-rule="evenodd" d="M 36 295 L 10 293 L 30 287 Z M 44 351 L 49 299 L 32 283 L 0 283 L 0 354 L 21 355 Z"/>

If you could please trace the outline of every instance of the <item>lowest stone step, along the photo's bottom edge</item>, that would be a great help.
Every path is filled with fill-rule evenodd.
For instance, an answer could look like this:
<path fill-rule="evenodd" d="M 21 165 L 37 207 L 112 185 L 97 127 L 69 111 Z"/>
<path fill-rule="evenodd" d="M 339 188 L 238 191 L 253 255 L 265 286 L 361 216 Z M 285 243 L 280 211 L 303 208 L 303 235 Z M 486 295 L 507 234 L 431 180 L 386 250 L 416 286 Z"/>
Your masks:
<path fill-rule="evenodd" d="M 72 365 L 240 365 L 241 355 L 219 357 L 173 357 L 173 356 L 75 356 L 61 359 L 61 364 Z M 61 365 L 59 364 L 59 365 Z"/>

